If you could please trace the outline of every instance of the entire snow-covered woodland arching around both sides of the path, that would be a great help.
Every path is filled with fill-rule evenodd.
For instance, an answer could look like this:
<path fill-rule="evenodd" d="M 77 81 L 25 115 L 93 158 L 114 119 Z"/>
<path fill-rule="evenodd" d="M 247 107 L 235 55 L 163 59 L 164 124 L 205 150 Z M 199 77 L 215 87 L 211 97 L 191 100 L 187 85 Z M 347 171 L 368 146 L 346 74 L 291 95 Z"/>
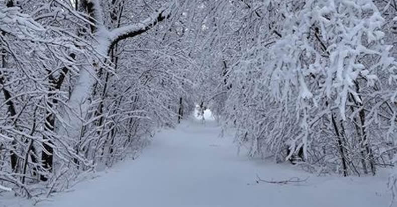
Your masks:
<path fill-rule="evenodd" d="M 394 0 L 0 3 L 0 190 L 68 187 L 195 104 L 249 156 L 395 164 Z"/>

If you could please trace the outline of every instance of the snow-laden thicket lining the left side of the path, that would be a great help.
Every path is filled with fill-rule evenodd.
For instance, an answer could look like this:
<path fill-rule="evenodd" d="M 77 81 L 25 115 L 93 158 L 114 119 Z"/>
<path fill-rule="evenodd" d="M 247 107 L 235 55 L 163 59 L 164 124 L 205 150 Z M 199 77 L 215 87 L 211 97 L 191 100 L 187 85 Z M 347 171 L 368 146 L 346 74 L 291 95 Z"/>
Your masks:
<path fill-rule="evenodd" d="M 69 187 L 190 113 L 177 6 L 1 2 L 0 190 Z"/>

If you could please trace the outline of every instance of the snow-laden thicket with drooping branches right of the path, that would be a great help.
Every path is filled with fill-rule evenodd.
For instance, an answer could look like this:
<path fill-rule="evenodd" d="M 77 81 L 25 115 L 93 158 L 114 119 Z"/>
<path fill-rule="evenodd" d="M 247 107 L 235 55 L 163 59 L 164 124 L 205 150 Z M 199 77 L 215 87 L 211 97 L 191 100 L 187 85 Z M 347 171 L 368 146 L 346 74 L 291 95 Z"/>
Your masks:
<path fill-rule="evenodd" d="M 256 36 L 239 40 L 246 48 L 232 61 L 224 86 L 230 88 L 215 104 L 224 106 L 220 115 L 238 129 L 240 145 L 250 156 L 276 161 L 300 156 L 318 173 L 374 175 L 376 168 L 392 166 L 393 3 L 252 7 L 266 10 L 248 12 L 253 20 L 239 32 Z"/>

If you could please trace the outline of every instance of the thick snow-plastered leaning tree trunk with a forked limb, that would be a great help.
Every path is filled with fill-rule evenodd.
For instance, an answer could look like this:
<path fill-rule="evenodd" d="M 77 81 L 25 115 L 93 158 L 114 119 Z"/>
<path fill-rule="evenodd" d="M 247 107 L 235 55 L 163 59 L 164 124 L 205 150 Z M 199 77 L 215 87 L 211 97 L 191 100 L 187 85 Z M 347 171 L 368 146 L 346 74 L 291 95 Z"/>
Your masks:
<path fill-rule="evenodd" d="M 67 107 L 62 109 L 61 116 L 64 123 L 55 123 L 55 130 L 58 135 L 69 137 L 72 140 L 78 140 L 81 135 L 84 118 L 87 115 L 90 104 L 88 99 L 92 93 L 92 87 L 96 83 L 93 75 L 96 74 L 98 69 L 103 67 L 100 59 L 109 54 L 118 42 L 139 36 L 149 31 L 157 23 L 169 18 L 171 7 L 161 8 L 157 13 L 140 23 L 123 26 L 112 31 L 102 25 L 104 22 L 102 19 L 102 8 L 97 0 L 82 0 L 80 1 L 79 9 L 87 13 L 87 21 L 91 22 L 92 36 L 97 40 L 92 45 L 93 50 L 102 55 L 102 57 L 87 60 L 86 67 L 79 72 L 67 101 Z"/>

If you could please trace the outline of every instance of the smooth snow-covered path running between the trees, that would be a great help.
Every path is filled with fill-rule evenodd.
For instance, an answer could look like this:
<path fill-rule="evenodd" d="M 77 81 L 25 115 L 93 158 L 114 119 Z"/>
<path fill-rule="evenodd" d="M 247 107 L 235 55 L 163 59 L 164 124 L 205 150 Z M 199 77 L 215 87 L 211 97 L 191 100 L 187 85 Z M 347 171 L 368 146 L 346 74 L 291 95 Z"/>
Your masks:
<path fill-rule="evenodd" d="M 136 160 L 126 160 L 72 192 L 41 207 L 339 207 L 388 206 L 387 174 L 377 177 L 316 177 L 287 163 L 238 155 L 231 136 L 219 137 L 214 122 L 188 120 L 158 133 Z M 256 183 L 309 179 L 296 184 Z M 0 197 L 0 206 L 31 206 Z"/>

